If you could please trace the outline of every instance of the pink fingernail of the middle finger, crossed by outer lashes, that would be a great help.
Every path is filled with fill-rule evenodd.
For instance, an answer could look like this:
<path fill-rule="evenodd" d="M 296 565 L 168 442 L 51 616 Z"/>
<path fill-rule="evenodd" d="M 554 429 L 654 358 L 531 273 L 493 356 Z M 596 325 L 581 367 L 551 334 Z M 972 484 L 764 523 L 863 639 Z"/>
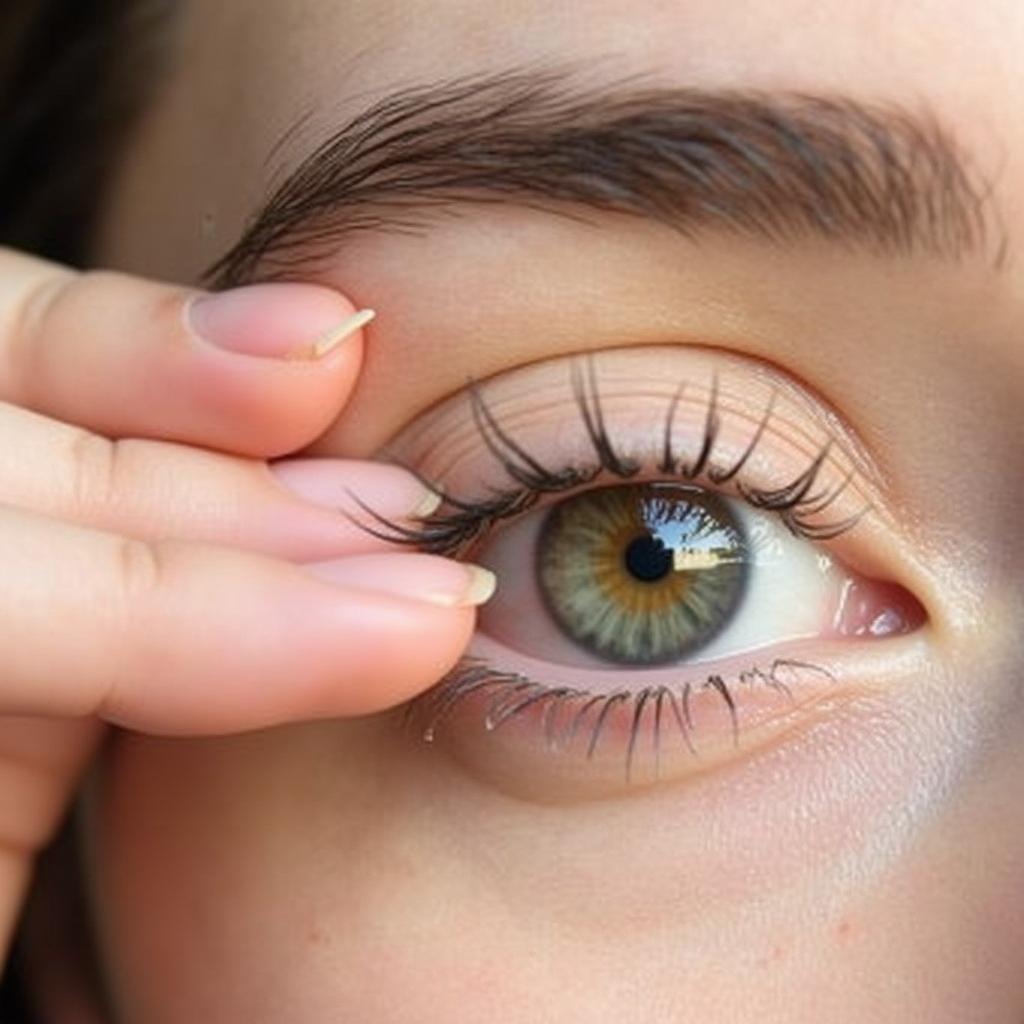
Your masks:
<path fill-rule="evenodd" d="M 430 515 L 441 502 L 438 494 L 412 473 L 389 463 L 279 459 L 267 468 L 282 486 L 302 501 L 356 516 L 362 512 L 359 502 L 379 515 L 410 519 Z"/>

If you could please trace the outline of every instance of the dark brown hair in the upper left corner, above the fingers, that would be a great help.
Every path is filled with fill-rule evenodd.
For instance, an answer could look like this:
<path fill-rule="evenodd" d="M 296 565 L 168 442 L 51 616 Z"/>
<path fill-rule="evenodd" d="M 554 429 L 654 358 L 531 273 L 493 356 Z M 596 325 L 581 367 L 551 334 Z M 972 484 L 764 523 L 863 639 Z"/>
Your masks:
<path fill-rule="evenodd" d="M 0 244 L 82 265 L 174 0 L 0 4 Z"/>

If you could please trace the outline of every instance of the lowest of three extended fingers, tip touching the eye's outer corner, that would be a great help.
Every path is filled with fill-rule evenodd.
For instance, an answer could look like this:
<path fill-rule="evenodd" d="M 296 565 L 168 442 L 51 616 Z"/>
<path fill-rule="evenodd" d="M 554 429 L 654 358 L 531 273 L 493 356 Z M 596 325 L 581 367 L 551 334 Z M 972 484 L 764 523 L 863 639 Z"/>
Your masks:
<path fill-rule="evenodd" d="M 94 714 L 159 733 L 406 700 L 457 660 L 493 581 L 434 555 L 298 566 L 10 508 L 0 508 L 0 711 Z"/>

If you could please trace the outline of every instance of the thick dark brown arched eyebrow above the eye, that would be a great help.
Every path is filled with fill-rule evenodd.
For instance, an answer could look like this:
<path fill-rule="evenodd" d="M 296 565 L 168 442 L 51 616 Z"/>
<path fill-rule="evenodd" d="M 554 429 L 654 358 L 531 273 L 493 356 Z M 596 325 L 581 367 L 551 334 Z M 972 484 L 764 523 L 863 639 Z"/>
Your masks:
<path fill-rule="evenodd" d="M 206 278 L 301 275 L 353 231 L 415 232 L 483 203 L 959 259 L 986 243 L 988 195 L 927 109 L 511 71 L 374 103 L 299 164 Z"/>

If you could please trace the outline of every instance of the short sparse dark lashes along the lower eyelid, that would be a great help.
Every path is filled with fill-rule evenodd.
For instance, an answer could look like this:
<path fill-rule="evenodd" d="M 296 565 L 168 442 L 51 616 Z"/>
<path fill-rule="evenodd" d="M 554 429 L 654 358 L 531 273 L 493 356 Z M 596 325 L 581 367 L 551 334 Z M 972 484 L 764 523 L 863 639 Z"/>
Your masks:
<path fill-rule="evenodd" d="M 835 682 L 825 668 L 796 658 L 774 658 L 767 669 L 757 666 L 740 672 L 731 685 L 721 675 L 710 674 L 699 680 L 684 680 L 676 687 L 646 686 L 639 690 L 617 689 L 595 694 L 571 686 L 552 686 L 535 682 L 518 673 L 492 668 L 481 658 L 465 657 L 431 690 L 407 705 L 403 723 L 420 728 L 424 742 L 435 740 L 438 730 L 455 711 L 474 694 L 484 696 L 480 721 L 493 732 L 529 711 L 542 710 L 542 732 L 550 750 L 567 748 L 584 730 L 586 756 L 597 752 L 608 717 L 616 706 L 631 711 L 631 726 L 625 753 L 626 780 L 633 773 L 641 729 L 648 727 L 653 751 L 655 776 L 666 728 L 678 731 L 687 751 L 699 759 L 693 742 L 694 722 L 691 698 L 701 690 L 714 690 L 728 709 L 732 723 L 733 745 L 739 745 L 739 720 L 734 689 L 764 685 L 777 690 L 792 702 L 793 692 L 783 676 L 795 682 L 795 674 L 810 674 Z M 649 709 L 649 711 L 648 711 Z"/>

